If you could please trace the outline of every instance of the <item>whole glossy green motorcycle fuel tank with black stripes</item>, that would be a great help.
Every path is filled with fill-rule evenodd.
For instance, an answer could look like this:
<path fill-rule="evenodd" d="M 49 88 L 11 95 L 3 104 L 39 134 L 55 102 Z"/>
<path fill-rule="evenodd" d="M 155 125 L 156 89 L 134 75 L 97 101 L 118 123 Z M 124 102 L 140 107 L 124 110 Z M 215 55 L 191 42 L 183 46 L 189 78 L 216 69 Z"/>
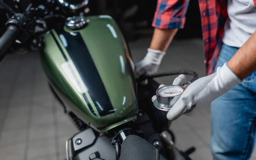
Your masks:
<path fill-rule="evenodd" d="M 86 124 L 106 132 L 136 119 L 134 65 L 110 16 L 85 20 L 84 28 L 59 25 L 46 33 L 40 58 L 63 103 Z"/>

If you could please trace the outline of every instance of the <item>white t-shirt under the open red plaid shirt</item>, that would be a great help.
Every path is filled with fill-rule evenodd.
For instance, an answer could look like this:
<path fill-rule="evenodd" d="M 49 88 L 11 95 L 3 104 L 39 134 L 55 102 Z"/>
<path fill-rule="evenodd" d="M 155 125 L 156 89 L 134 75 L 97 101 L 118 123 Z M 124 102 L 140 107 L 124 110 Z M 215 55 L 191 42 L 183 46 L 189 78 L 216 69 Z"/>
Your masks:
<path fill-rule="evenodd" d="M 256 30 L 253 0 L 228 0 L 228 17 L 222 41 L 229 46 L 241 47 Z"/>

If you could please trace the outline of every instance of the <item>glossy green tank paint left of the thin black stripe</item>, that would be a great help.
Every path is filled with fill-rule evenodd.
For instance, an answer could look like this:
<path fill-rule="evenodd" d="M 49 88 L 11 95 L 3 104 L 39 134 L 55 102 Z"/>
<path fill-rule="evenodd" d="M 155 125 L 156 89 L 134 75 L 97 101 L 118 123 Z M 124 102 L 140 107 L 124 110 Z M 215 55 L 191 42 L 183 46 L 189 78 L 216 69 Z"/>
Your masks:
<path fill-rule="evenodd" d="M 43 44 L 44 47 L 40 50 L 41 64 L 56 93 L 60 96 L 65 105 L 72 108 L 72 111 L 85 123 L 96 123 L 95 121 L 91 121 L 94 115 L 88 109 L 81 93 L 75 90 L 72 83 L 65 77 L 61 65 L 66 61 L 51 34 L 47 33 L 44 36 Z M 76 106 L 84 107 L 76 108 Z"/>

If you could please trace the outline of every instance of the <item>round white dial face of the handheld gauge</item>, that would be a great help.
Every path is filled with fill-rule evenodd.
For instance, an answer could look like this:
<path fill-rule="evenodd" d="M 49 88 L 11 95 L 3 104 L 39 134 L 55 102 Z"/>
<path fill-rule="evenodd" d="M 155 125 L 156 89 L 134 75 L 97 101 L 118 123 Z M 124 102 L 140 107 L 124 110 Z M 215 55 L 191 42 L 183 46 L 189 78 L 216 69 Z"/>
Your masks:
<path fill-rule="evenodd" d="M 182 94 L 184 89 L 178 85 L 167 85 L 159 88 L 156 92 L 163 97 L 175 97 Z"/>

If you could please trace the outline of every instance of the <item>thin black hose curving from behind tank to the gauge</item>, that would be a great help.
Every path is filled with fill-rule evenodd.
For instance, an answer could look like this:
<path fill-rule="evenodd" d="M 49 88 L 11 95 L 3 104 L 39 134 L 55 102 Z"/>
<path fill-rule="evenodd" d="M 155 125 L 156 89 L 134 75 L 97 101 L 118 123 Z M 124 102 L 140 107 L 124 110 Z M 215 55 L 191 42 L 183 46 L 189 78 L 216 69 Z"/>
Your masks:
<path fill-rule="evenodd" d="M 171 75 L 180 75 L 180 74 L 185 74 L 185 75 L 191 75 L 193 78 L 189 82 L 194 82 L 195 80 L 198 79 L 198 74 L 194 71 L 190 70 L 177 70 L 177 71 L 171 71 L 171 72 L 165 72 L 165 73 L 157 73 L 154 75 L 150 76 L 141 76 L 140 78 L 137 79 L 137 82 L 141 82 L 145 79 L 152 79 L 156 77 L 162 77 L 162 76 L 171 76 Z"/>

